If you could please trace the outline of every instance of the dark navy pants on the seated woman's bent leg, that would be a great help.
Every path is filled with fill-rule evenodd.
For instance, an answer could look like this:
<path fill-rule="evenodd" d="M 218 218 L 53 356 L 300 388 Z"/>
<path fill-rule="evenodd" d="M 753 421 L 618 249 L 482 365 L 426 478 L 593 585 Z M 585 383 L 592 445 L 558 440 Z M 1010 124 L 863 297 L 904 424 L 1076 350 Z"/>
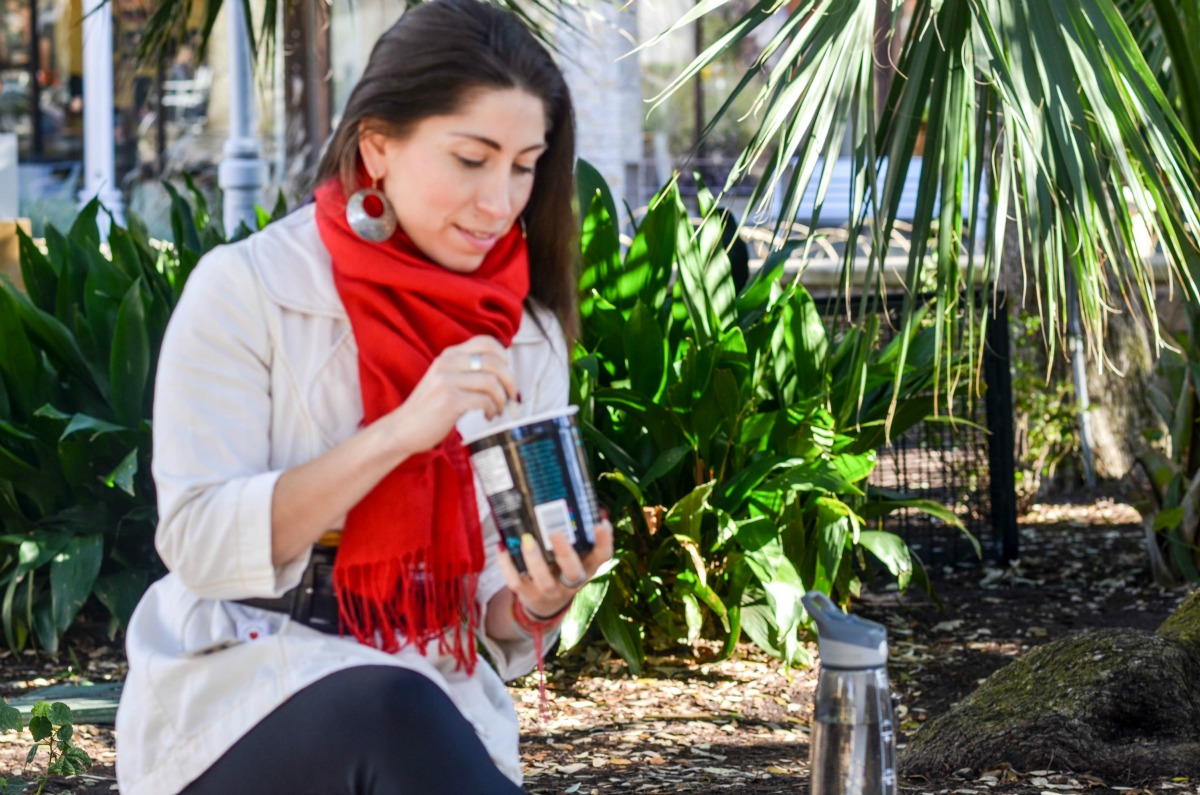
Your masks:
<path fill-rule="evenodd" d="M 520 795 L 420 674 L 365 665 L 300 691 L 182 795 Z"/>

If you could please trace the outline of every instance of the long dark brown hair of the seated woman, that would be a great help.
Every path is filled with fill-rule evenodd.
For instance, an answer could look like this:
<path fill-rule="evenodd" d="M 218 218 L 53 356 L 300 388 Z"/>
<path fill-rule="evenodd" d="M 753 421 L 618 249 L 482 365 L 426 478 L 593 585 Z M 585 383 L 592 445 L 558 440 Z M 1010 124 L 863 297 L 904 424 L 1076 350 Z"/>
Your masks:
<path fill-rule="evenodd" d="M 480 89 L 522 89 L 546 107 L 546 151 L 521 214 L 528 231 L 530 298 L 552 310 L 568 341 L 577 333 L 575 118 L 566 80 L 546 48 L 508 11 L 479 0 L 433 0 L 385 32 L 350 92 L 317 169 L 358 190 L 359 128 L 403 138 L 424 119 L 462 109 Z"/>

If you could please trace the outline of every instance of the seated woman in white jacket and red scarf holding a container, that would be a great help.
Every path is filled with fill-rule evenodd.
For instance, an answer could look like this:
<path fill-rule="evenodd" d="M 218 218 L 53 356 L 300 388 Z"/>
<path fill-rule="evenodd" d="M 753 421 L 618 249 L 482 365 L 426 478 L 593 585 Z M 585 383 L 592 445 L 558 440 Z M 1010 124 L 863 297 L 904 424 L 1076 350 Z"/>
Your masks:
<path fill-rule="evenodd" d="M 376 44 L 314 204 L 196 269 L 158 365 L 170 574 L 127 633 L 122 793 L 521 791 L 502 677 L 612 530 L 518 575 L 461 438 L 566 404 L 572 166 L 546 50 L 437 0 Z"/>

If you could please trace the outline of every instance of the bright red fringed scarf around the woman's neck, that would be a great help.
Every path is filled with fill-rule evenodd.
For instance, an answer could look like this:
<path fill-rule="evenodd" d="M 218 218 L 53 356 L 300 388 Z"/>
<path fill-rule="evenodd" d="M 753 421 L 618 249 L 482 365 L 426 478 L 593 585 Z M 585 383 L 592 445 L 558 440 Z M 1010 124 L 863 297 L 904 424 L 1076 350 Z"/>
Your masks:
<path fill-rule="evenodd" d="M 346 221 L 341 180 L 320 185 L 317 228 L 359 347 L 362 423 L 400 406 L 449 346 L 487 334 L 505 347 L 529 292 L 529 256 L 514 227 L 472 274 L 448 270 L 398 231 L 367 243 Z M 334 586 L 343 630 L 395 652 L 438 639 L 474 670 L 484 568 L 474 476 L 457 431 L 391 471 L 346 518 Z"/>

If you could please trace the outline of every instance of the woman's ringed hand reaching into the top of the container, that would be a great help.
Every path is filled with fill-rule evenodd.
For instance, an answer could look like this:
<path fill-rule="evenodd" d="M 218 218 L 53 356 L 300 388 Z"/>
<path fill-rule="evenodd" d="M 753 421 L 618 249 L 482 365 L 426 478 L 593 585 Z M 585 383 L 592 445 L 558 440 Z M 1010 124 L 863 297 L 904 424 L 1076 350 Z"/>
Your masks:
<path fill-rule="evenodd" d="M 492 419 L 510 400 L 518 394 L 508 349 L 494 337 L 474 336 L 445 348 L 385 419 L 397 447 L 412 455 L 440 444 L 467 412 Z"/>

